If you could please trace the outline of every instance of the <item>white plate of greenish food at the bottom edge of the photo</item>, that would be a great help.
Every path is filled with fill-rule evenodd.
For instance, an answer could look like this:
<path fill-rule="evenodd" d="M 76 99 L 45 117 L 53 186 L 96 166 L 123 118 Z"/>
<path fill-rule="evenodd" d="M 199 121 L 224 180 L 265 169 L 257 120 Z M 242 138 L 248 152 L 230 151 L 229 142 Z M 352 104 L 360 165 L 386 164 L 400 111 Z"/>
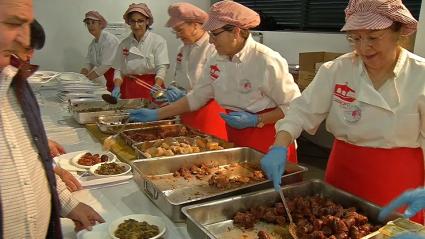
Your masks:
<path fill-rule="evenodd" d="M 114 239 L 157 239 L 165 234 L 163 219 L 148 214 L 133 214 L 109 224 L 109 236 Z"/>

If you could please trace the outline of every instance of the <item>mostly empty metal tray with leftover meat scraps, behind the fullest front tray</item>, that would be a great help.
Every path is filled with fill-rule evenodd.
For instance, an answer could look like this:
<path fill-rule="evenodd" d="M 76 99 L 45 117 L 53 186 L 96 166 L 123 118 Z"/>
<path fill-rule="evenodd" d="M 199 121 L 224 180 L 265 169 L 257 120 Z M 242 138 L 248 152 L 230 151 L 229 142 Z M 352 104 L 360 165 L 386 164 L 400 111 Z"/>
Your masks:
<path fill-rule="evenodd" d="M 214 162 L 220 168 L 234 163 L 260 164 L 263 154 L 250 148 L 232 148 L 189 155 L 178 155 L 132 162 L 134 178 L 141 190 L 174 222 L 183 222 L 183 206 L 214 199 L 239 195 L 245 192 L 272 187 L 270 180 L 240 185 L 236 188 L 218 189 L 208 185 L 209 177 L 198 180 L 174 178 L 173 173 L 181 167 Z M 282 177 L 285 184 L 303 180 L 307 168 L 288 163 L 287 173 Z"/>

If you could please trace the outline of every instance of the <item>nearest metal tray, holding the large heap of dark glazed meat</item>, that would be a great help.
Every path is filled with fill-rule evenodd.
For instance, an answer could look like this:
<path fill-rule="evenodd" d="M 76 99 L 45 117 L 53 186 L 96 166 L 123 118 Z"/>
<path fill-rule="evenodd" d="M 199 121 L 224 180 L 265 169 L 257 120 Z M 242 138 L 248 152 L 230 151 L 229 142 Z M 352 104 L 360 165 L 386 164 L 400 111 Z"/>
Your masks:
<path fill-rule="evenodd" d="M 287 198 L 313 195 L 328 197 L 334 202 L 341 204 L 343 207 L 357 208 L 359 212 L 369 218 L 370 222 L 382 224 L 382 222 L 379 222 L 377 219 L 380 211 L 379 206 L 339 190 L 321 180 L 304 181 L 287 185 L 283 187 L 282 190 Z M 270 206 L 276 202 L 281 202 L 279 194 L 273 189 L 267 189 L 213 202 L 186 206 L 182 209 L 182 212 L 187 217 L 187 231 L 193 239 L 252 238 L 250 237 L 250 233 L 256 235 L 255 230 L 251 232 L 247 230 L 241 231 L 233 225 L 233 216 L 238 211 L 247 210 L 256 206 Z M 399 216 L 400 214 L 394 213 L 388 220 L 392 220 Z M 257 231 L 266 230 L 270 232 L 278 227 L 267 223 L 257 224 Z M 248 237 L 243 237 L 243 235 Z M 364 238 L 367 238 L 367 236 Z"/>

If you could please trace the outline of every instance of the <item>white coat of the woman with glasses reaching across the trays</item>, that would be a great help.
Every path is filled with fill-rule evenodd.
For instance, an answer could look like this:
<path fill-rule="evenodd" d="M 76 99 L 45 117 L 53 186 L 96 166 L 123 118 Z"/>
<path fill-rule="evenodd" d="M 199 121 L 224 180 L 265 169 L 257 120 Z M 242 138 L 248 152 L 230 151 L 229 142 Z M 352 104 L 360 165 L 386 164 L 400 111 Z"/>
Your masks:
<path fill-rule="evenodd" d="M 191 111 L 214 98 L 225 109 L 257 113 L 274 107 L 286 112 L 299 95 L 286 60 L 250 35 L 232 60 L 218 54 L 211 57 L 187 97 Z"/>

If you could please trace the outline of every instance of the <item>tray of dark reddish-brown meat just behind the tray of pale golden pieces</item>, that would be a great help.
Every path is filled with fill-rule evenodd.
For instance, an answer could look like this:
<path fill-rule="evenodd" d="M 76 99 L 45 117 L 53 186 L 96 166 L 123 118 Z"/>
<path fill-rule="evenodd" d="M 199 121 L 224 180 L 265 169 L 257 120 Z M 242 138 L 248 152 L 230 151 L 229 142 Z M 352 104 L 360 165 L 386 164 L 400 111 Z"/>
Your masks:
<path fill-rule="evenodd" d="M 186 135 L 180 135 L 180 132 L 183 129 L 187 130 Z M 168 132 L 167 132 L 168 131 Z M 150 127 L 143 127 L 139 129 L 128 129 L 124 130 L 120 133 L 121 138 L 129 145 L 133 146 L 135 144 L 144 143 L 147 141 L 155 141 L 158 139 L 164 139 L 166 137 L 161 137 L 161 134 L 167 132 L 166 137 L 179 137 L 179 136 L 196 136 L 196 135 L 204 135 L 199 130 L 192 129 L 183 124 L 165 124 L 165 125 L 153 125 Z M 134 139 L 133 135 L 139 135 L 140 140 Z M 154 139 L 147 139 L 145 136 L 151 135 L 155 137 Z"/>

